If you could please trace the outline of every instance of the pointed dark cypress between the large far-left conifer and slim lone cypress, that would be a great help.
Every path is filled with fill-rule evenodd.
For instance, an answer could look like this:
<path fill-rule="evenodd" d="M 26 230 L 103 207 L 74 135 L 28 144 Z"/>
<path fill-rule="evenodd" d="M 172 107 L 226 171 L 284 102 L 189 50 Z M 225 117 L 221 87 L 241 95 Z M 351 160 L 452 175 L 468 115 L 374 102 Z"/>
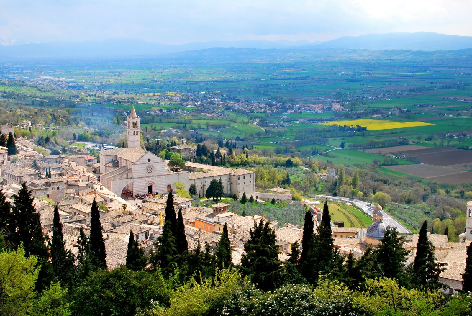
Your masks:
<path fill-rule="evenodd" d="M 59 218 L 59 207 L 54 206 L 54 218 L 52 221 L 52 238 L 50 242 L 51 264 L 54 275 L 58 278 L 63 286 L 72 285 L 75 265 L 74 255 L 72 252 L 66 251 L 66 242 L 62 234 L 62 224 Z"/>

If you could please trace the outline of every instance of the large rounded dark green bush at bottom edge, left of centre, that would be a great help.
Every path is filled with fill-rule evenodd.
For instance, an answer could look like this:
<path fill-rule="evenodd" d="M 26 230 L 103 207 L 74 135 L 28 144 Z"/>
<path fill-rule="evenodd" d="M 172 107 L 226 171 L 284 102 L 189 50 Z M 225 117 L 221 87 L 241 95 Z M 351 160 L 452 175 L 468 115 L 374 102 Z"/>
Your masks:
<path fill-rule="evenodd" d="M 76 288 L 77 316 L 133 316 L 152 302 L 169 304 L 169 283 L 159 272 L 132 271 L 126 267 L 102 270 Z"/>

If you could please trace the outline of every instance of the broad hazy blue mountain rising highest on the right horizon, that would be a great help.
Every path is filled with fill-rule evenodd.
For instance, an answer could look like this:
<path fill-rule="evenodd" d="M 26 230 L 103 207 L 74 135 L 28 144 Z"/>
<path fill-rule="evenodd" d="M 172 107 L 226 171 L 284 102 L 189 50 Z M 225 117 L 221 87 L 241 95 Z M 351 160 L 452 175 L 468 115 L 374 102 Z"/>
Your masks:
<path fill-rule="evenodd" d="M 452 51 L 472 48 L 472 37 L 429 32 L 367 34 L 340 37 L 316 48 Z"/>

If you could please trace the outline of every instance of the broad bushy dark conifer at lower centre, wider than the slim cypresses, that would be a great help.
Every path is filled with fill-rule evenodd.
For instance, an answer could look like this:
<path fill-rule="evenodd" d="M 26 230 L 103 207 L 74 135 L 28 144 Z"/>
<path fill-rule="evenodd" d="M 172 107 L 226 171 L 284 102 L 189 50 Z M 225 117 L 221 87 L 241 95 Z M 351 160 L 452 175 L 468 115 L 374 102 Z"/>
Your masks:
<path fill-rule="evenodd" d="M 250 239 L 244 243 L 245 254 L 241 257 L 241 273 L 264 291 L 277 289 L 283 281 L 283 268 L 278 259 L 275 233 L 269 222 L 254 222 Z"/>

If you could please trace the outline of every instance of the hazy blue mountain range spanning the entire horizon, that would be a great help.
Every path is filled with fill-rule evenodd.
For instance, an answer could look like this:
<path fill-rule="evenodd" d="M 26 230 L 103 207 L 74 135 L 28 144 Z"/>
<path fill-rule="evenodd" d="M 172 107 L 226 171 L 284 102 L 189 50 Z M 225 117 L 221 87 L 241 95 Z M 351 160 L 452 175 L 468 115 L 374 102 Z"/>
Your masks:
<path fill-rule="evenodd" d="M 472 36 L 417 32 L 344 36 L 327 42 L 211 41 L 182 45 L 160 44 L 135 39 L 109 39 L 101 42 L 57 42 L 0 46 L 0 60 L 157 57 L 183 51 L 189 53 L 189 51 L 225 47 L 276 50 L 367 49 L 451 51 L 471 49 Z"/>

